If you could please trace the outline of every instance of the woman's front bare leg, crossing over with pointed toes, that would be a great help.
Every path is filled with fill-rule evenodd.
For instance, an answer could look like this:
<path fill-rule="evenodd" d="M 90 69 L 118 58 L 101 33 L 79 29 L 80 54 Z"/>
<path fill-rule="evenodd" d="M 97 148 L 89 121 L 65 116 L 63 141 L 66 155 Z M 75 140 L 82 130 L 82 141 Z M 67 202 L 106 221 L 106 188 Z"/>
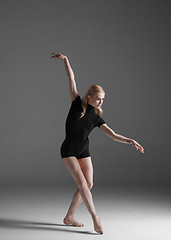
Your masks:
<path fill-rule="evenodd" d="M 66 168 L 68 169 L 68 171 L 73 176 L 73 178 L 79 188 L 81 197 L 84 200 L 84 203 L 92 216 L 95 231 L 102 234 L 103 230 L 100 225 L 99 219 L 96 215 L 96 210 L 94 207 L 92 194 L 87 186 L 86 179 L 81 170 L 78 160 L 75 157 L 68 157 L 68 158 L 63 158 L 63 162 L 64 162 Z"/>

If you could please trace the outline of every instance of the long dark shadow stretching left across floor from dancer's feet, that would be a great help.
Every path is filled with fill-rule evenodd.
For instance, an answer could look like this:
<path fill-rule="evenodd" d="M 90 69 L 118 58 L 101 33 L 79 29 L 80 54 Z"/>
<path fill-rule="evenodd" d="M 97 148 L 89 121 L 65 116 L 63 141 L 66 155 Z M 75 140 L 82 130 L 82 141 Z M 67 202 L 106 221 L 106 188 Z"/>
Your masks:
<path fill-rule="evenodd" d="M 43 223 L 43 222 L 0 218 L 0 228 L 4 228 L 4 229 L 18 228 L 18 229 L 31 229 L 31 230 L 50 230 L 50 231 L 98 235 L 98 233 L 93 233 L 90 231 L 78 231 L 73 229 L 66 229 L 68 227 L 74 227 L 74 226 L 65 225 L 65 224 Z M 78 227 L 75 227 L 75 228 L 78 228 Z"/>

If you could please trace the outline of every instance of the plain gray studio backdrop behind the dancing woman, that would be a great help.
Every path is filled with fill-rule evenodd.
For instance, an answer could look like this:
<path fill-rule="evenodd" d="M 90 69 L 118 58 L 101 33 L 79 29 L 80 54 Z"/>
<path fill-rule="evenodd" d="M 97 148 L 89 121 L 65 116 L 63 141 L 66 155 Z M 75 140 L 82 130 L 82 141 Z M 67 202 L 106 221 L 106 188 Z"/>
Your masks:
<path fill-rule="evenodd" d="M 72 182 L 60 159 L 70 107 L 66 54 L 83 96 L 145 154 L 95 129 L 98 184 L 170 184 L 170 1 L 1 0 L 0 183 Z"/>

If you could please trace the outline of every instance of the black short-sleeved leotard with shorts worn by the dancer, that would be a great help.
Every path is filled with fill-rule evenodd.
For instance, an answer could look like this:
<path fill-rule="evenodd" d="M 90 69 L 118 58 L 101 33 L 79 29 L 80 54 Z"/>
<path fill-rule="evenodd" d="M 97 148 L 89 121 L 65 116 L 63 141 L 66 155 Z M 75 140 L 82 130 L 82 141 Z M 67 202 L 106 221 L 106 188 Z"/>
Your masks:
<path fill-rule="evenodd" d="M 85 115 L 82 113 L 80 96 L 72 102 L 69 110 L 65 131 L 66 138 L 61 146 L 62 158 L 75 156 L 77 159 L 89 157 L 88 135 L 95 127 L 100 127 L 105 121 L 95 113 L 94 107 L 88 104 Z"/>

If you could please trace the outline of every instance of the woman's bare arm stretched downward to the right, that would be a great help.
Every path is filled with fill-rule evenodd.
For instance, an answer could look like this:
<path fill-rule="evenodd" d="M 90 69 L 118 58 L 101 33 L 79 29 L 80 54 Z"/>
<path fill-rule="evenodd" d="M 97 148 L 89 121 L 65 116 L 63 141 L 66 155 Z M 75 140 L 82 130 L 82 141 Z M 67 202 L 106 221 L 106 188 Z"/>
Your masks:
<path fill-rule="evenodd" d="M 135 140 L 133 140 L 131 138 L 127 138 L 120 134 L 115 133 L 110 127 L 108 127 L 107 124 L 102 124 L 100 126 L 100 130 L 104 134 L 106 134 L 108 137 L 112 138 L 113 140 L 115 140 L 117 142 L 132 144 L 137 150 L 139 149 L 140 152 L 144 153 L 144 148 L 139 143 L 137 143 Z"/>

